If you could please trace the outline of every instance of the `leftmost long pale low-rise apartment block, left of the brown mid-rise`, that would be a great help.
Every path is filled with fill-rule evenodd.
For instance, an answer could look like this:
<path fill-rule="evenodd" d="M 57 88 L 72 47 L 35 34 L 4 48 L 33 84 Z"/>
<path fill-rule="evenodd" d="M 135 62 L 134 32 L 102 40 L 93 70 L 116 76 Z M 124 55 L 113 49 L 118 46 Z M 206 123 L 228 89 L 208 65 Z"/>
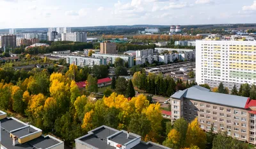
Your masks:
<path fill-rule="evenodd" d="M 81 56 L 67 56 L 68 64 L 75 64 L 79 67 L 93 67 L 94 65 L 107 65 L 106 59 L 103 58 L 90 58 Z"/>

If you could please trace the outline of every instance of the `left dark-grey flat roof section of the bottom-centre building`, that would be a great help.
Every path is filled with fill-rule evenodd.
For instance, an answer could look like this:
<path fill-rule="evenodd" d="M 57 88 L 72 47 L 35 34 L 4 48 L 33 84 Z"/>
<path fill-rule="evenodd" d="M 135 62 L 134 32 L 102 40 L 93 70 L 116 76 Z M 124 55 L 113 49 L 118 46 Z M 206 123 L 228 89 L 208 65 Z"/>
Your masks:
<path fill-rule="evenodd" d="M 84 137 L 80 139 L 81 141 L 84 141 L 84 143 L 88 143 L 89 145 L 95 146 L 96 148 L 99 149 L 115 149 L 115 147 L 108 145 L 106 141 L 102 141 L 97 138 L 97 136 L 89 136 L 89 137 Z"/>

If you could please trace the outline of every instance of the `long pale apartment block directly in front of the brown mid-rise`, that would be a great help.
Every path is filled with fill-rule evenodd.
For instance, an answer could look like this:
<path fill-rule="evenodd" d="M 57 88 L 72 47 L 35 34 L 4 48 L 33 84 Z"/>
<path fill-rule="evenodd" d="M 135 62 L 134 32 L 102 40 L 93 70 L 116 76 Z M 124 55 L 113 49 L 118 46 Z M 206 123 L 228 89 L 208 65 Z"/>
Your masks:
<path fill-rule="evenodd" d="M 118 55 L 118 54 L 97 54 L 93 53 L 92 58 L 106 59 L 107 64 L 114 64 L 116 58 L 122 58 L 125 62 L 128 62 L 129 68 L 134 66 L 134 56 Z"/>

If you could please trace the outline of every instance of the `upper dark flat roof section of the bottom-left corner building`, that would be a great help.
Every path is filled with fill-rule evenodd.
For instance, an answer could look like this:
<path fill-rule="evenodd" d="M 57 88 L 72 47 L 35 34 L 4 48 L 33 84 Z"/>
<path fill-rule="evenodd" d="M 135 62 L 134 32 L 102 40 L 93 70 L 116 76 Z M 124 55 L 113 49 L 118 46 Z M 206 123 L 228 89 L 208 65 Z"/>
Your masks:
<path fill-rule="evenodd" d="M 13 120 L 12 118 L 4 118 L 3 120 L 0 120 L 1 122 L 1 127 L 3 129 L 6 129 L 8 132 L 11 130 L 19 129 L 21 127 L 25 127 L 23 123 L 17 122 L 16 120 Z"/>

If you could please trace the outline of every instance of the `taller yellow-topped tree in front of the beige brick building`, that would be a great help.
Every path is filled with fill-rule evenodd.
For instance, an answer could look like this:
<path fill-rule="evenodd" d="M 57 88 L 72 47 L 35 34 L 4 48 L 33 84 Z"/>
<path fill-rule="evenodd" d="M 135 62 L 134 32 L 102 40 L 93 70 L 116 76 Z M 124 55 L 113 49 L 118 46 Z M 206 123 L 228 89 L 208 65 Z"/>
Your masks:
<path fill-rule="evenodd" d="M 195 118 L 188 125 L 188 132 L 186 136 L 186 146 L 198 146 L 204 149 L 206 145 L 206 134 L 198 125 L 198 120 Z"/>

